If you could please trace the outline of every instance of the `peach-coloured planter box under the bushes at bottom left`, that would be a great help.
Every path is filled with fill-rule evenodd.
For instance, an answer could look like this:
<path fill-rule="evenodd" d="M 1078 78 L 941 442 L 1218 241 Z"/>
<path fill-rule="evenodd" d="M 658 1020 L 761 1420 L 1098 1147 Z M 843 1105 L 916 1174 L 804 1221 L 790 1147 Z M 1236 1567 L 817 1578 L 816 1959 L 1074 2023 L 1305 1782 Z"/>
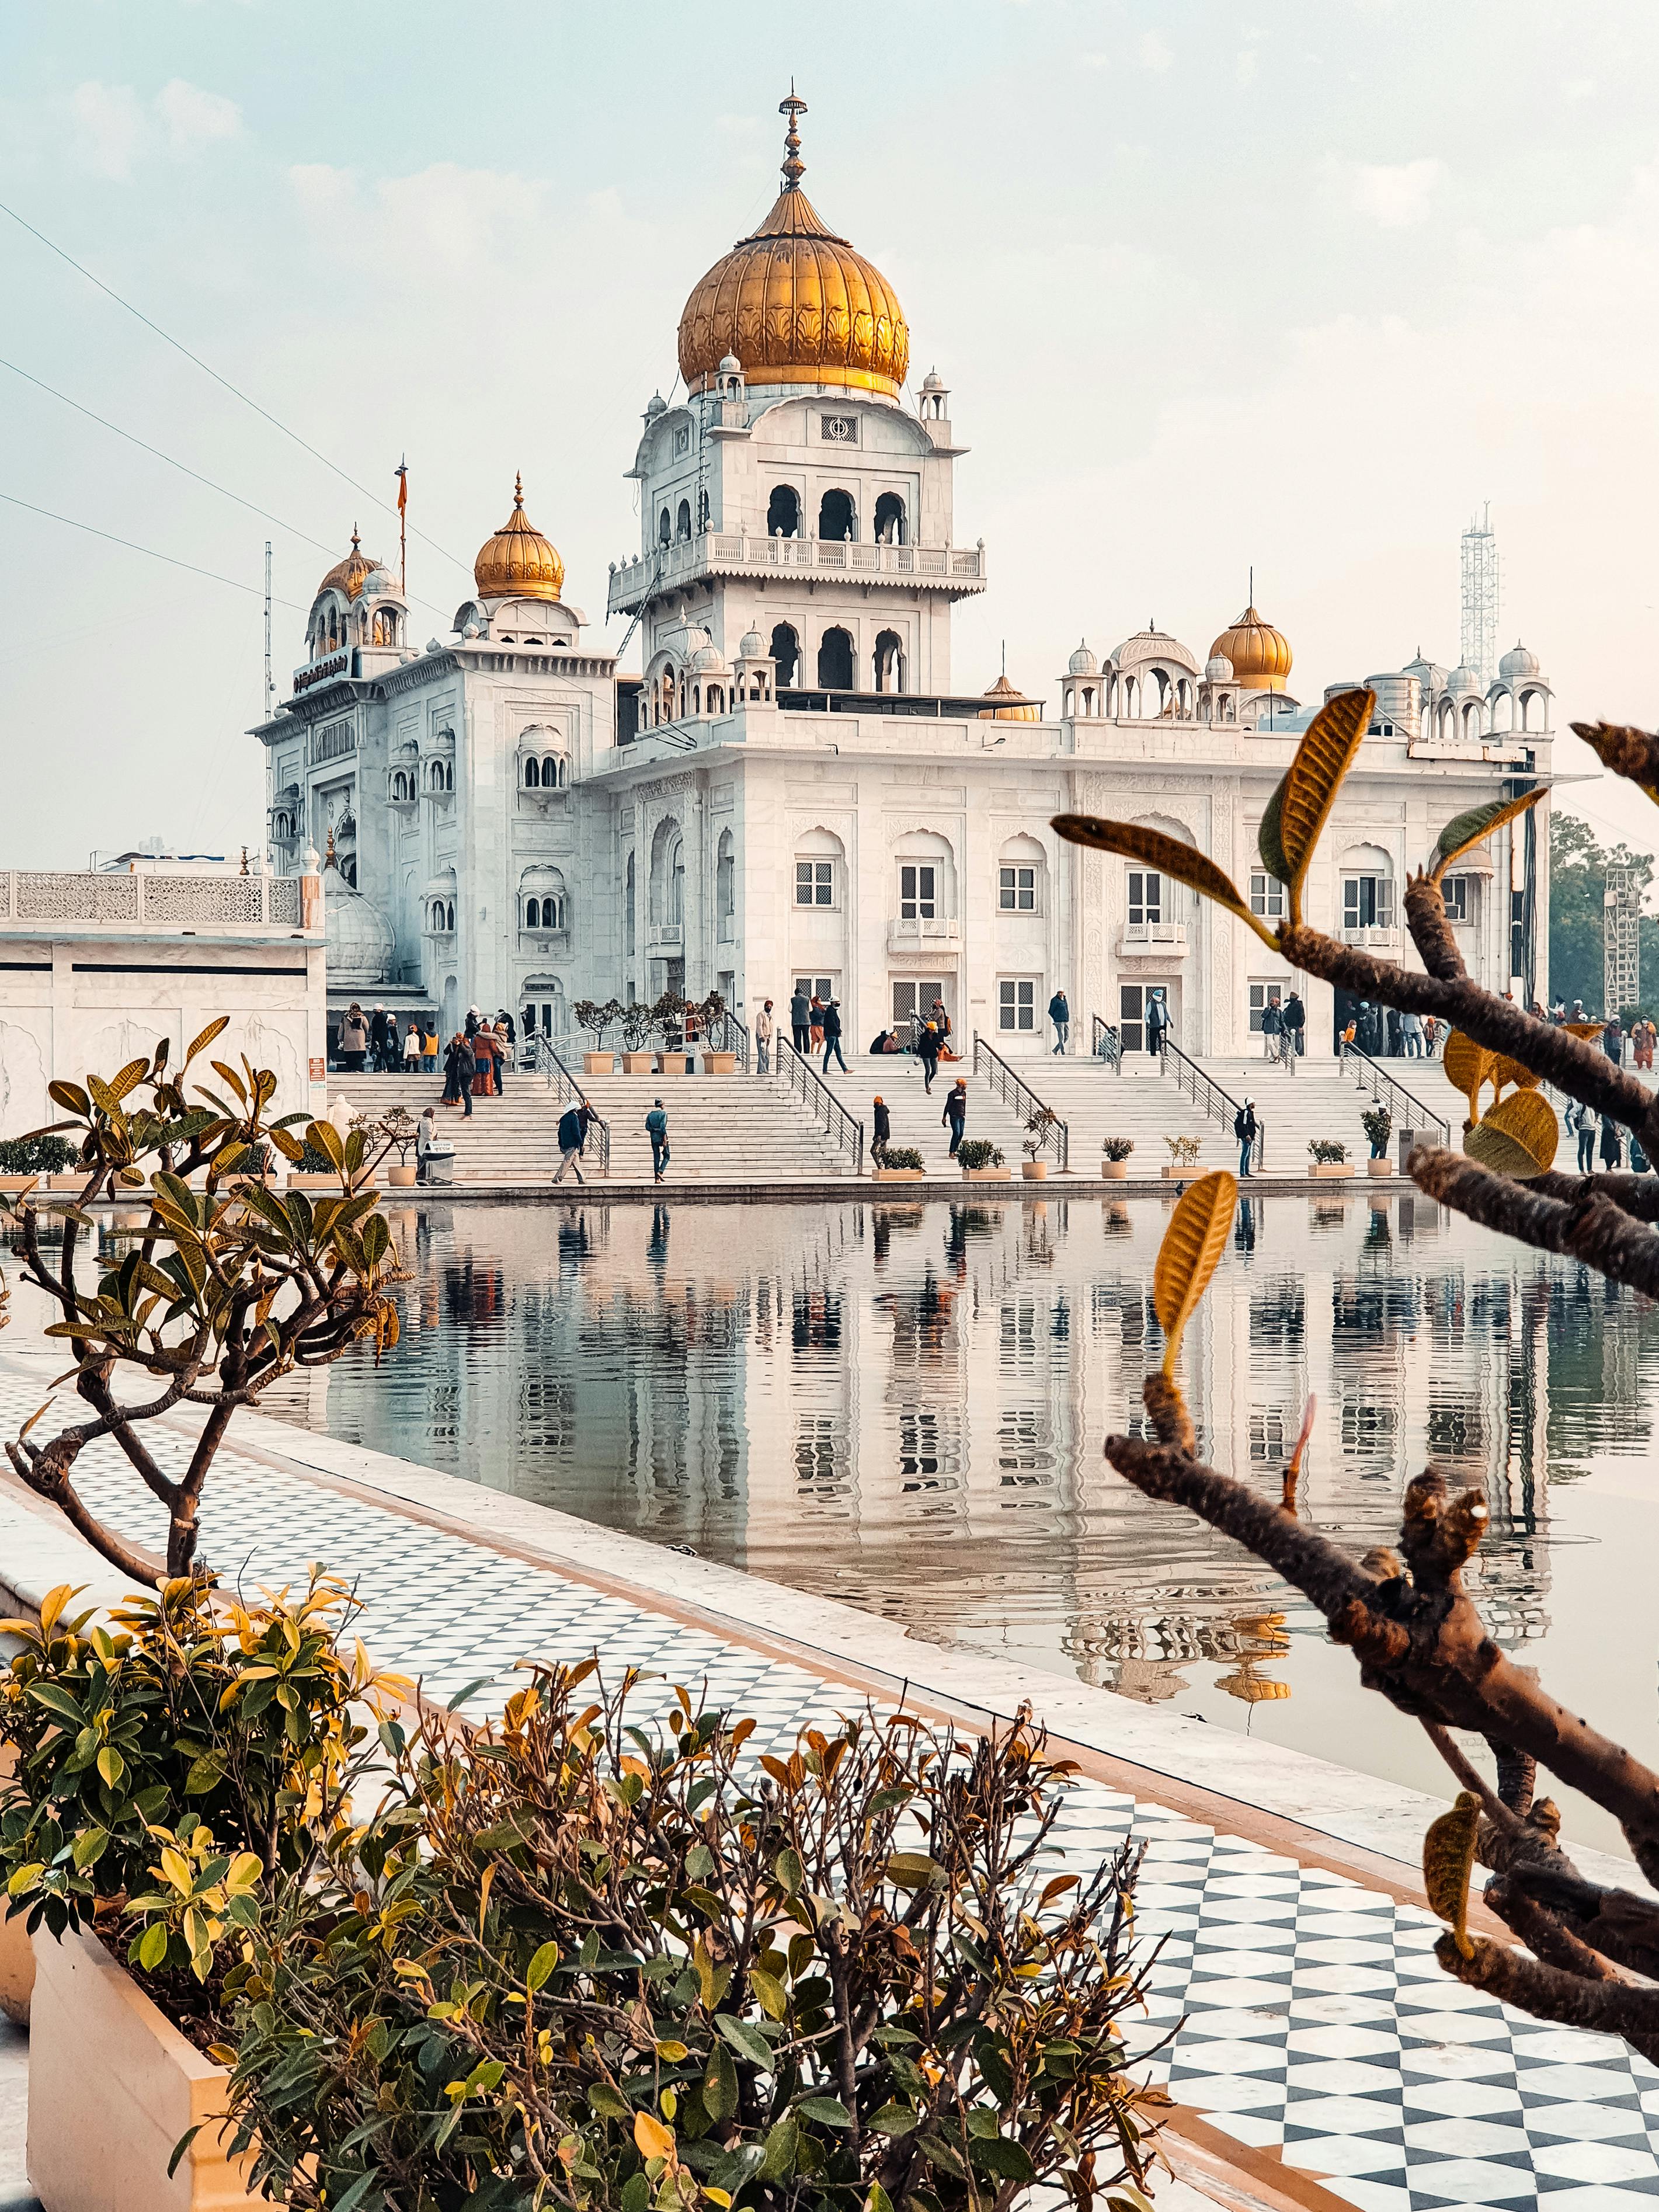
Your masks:
<path fill-rule="evenodd" d="M 204 2057 L 95 1936 L 35 1938 L 29 2185 L 51 2212 L 228 2212 L 250 2161 L 226 2161 L 226 2070 Z M 168 2181 L 173 2146 L 201 2135 Z"/>

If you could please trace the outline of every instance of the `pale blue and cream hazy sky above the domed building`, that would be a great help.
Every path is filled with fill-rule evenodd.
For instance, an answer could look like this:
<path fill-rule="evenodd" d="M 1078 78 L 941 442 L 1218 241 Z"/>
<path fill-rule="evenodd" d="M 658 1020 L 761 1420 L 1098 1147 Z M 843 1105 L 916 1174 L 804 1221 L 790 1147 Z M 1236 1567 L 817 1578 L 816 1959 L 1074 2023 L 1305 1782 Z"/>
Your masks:
<path fill-rule="evenodd" d="M 0 0 L 0 865 L 259 845 L 265 538 L 281 697 L 354 522 L 396 560 L 403 456 L 418 639 L 522 469 L 615 648 L 639 416 L 792 77 L 971 449 L 958 688 L 1006 644 L 1057 706 L 1148 619 L 1203 657 L 1252 566 L 1298 697 L 1451 666 L 1491 502 L 1500 648 L 1559 730 L 1648 726 L 1657 73 L 1650 0 Z"/>

